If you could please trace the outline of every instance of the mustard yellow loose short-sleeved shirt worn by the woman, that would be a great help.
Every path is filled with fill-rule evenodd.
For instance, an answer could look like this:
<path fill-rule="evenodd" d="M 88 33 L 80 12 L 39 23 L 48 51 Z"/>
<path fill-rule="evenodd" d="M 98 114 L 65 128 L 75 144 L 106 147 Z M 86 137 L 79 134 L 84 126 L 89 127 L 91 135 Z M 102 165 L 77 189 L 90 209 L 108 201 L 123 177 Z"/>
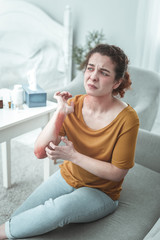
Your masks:
<path fill-rule="evenodd" d="M 86 156 L 110 162 L 121 169 L 132 168 L 139 128 L 135 110 L 128 105 L 109 125 L 93 130 L 83 120 L 84 97 L 85 95 L 77 95 L 72 99 L 74 112 L 66 117 L 59 134 L 67 136 L 73 142 L 74 148 Z M 67 160 L 60 168 L 63 178 L 74 188 L 97 188 L 113 200 L 120 196 L 123 180 L 113 182 L 102 179 Z"/>

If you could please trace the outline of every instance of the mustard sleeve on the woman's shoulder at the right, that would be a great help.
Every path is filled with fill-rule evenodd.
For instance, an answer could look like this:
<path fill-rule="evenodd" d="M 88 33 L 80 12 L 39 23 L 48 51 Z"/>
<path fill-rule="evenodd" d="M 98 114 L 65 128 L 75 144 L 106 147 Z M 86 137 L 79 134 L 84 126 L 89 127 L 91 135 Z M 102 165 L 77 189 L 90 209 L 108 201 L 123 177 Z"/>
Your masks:
<path fill-rule="evenodd" d="M 139 124 L 123 131 L 115 144 L 112 154 L 112 164 L 121 169 L 134 166 L 135 148 Z"/>

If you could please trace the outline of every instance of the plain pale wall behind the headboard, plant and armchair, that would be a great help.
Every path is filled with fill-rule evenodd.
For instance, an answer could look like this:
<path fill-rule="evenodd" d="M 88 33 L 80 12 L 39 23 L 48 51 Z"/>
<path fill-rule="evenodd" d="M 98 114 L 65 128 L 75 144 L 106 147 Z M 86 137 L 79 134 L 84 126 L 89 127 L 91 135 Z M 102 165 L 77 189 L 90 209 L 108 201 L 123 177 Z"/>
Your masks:
<path fill-rule="evenodd" d="M 139 0 L 26 0 L 63 22 L 67 4 L 72 9 L 74 45 L 83 45 L 88 31 L 103 30 L 106 42 L 121 47 L 135 65 L 136 15 Z"/>

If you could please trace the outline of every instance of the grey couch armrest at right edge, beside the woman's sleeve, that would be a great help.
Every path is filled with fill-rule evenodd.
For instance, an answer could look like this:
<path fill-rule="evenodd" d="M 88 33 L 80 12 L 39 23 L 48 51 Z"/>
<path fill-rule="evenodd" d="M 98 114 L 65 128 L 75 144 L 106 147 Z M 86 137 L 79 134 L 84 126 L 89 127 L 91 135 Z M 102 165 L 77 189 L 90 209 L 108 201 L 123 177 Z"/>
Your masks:
<path fill-rule="evenodd" d="M 160 173 L 160 135 L 139 129 L 135 161 Z"/>

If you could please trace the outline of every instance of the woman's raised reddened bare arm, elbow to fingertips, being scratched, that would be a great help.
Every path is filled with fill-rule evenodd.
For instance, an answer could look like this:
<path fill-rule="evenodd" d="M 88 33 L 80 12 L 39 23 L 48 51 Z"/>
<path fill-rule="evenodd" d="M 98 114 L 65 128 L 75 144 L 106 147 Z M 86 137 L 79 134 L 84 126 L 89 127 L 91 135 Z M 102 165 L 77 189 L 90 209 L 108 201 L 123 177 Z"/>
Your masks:
<path fill-rule="evenodd" d="M 57 99 L 58 107 L 35 142 L 34 154 L 37 158 L 47 157 L 45 148 L 50 142 L 53 142 L 55 145 L 59 144 L 61 140 L 61 137 L 59 136 L 61 126 L 66 116 L 74 111 L 73 103 L 71 103 L 71 106 L 67 104 L 67 100 L 70 97 L 72 97 L 72 95 L 68 92 L 57 92 L 54 95 L 54 98 Z"/>

